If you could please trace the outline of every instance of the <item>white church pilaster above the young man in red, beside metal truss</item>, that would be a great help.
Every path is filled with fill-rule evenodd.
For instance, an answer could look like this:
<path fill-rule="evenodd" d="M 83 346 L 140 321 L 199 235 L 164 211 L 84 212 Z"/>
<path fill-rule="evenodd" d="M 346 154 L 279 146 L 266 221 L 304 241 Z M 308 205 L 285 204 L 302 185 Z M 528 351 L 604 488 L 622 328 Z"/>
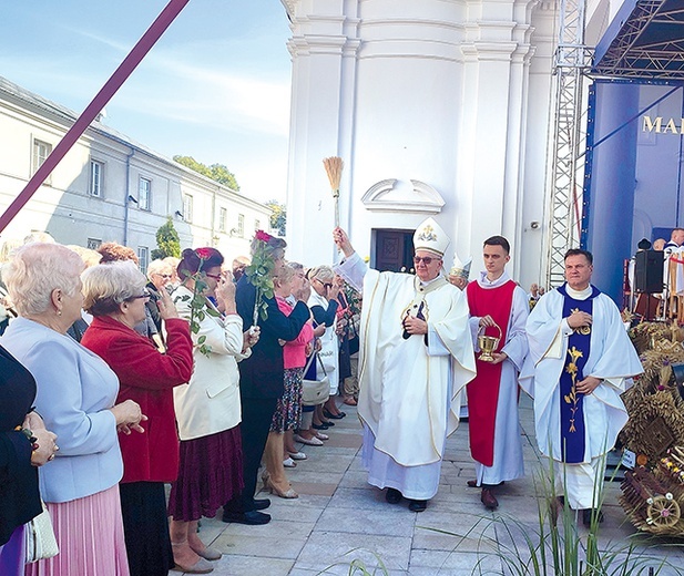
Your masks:
<path fill-rule="evenodd" d="M 474 255 L 494 234 L 519 249 L 532 6 L 468 4 L 458 181 L 469 229 L 459 236 Z"/>

